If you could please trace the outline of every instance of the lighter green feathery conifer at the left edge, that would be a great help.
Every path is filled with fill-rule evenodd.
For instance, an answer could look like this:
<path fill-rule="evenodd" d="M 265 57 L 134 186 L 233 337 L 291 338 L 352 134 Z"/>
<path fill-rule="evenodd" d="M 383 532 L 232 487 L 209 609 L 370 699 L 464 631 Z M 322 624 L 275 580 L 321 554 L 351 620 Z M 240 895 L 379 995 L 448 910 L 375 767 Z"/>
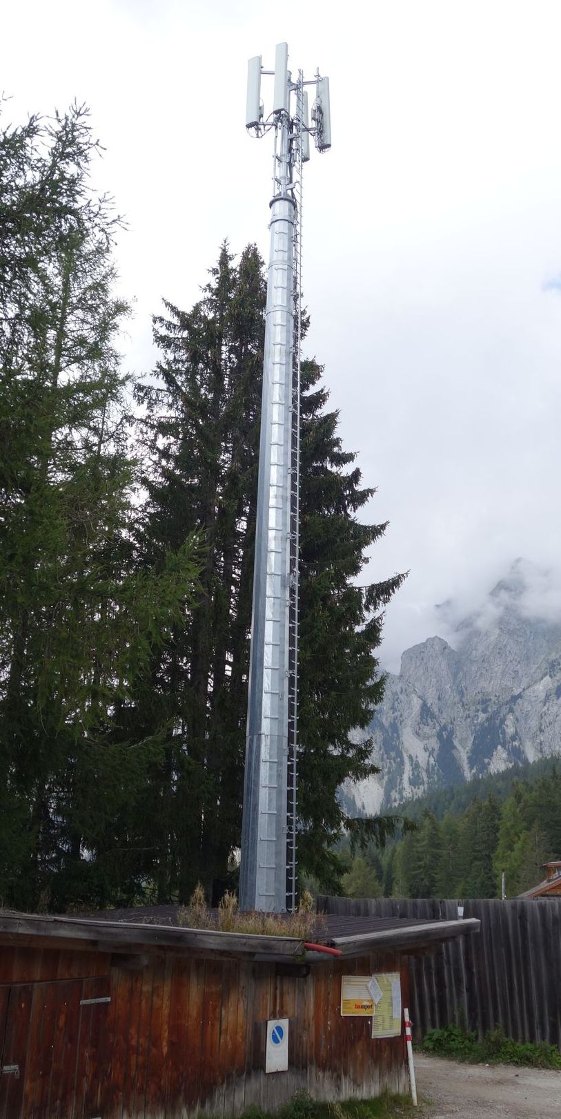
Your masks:
<path fill-rule="evenodd" d="M 196 574 L 192 545 L 155 580 L 133 563 L 127 308 L 97 148 L 76 105 L 0 133 L 0 894 L 21 908 L 95 876 L 143 764 L 107 745 L 115 698 Z"/>

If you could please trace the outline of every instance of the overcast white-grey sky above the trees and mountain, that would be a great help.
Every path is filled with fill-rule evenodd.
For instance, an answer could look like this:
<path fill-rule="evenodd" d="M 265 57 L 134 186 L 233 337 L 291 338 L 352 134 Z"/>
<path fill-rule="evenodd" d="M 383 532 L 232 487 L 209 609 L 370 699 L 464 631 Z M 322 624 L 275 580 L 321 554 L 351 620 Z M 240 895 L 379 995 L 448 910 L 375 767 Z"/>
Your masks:
<path fill-rule="evenodd" d="M 162 295 L 189 308 L 224 237 L 266 255 L 246 65 L 282 40 L 331 81 L 333 148 L 304 187 L 307 351 L 390 520 L 368 574 L 410 570 L 394 668 L 438 630 L 435 603 L 472 609 L 516 556 L 561 584 L 559 0 L 12 0 L 4 121 L 91 105 L 129 220 L 125 359 L 148 370 Z"/>

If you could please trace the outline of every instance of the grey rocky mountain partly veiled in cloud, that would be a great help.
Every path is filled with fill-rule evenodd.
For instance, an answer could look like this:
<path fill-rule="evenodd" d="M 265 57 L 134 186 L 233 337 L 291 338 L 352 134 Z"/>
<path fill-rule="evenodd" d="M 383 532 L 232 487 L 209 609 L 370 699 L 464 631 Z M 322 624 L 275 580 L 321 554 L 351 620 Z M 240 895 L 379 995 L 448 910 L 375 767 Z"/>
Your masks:
<path fill-rule="evenodd" d="M 532 571 L 516 561 L 451 641 L 403 652 L 368 732 L 380 777 L 348 786 L 348 807 L 370 815 L 561 753 L 561 622 L 534 606 Z"/>

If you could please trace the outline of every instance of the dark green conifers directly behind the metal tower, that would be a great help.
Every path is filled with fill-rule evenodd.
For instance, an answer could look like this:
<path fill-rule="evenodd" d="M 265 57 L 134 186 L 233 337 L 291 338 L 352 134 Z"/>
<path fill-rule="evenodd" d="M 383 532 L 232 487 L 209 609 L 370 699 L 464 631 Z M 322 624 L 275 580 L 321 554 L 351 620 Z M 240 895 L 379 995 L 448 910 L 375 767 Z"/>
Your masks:
<path fill-rule="evenodd" d="M 134 733 L 167 735 L 151 784 L 161 806 L 162 901 L 189 896 L 199 878 L 216 895 L 239 845 L 265 298 L 255 247 L 236 265 L 222 246 L 196 307 L 165 304 L 155 319 L 158 379 L 137 394 L 144 562 L 192 532 L 206 548 L 197 610 L 154 658 L 129 712 Z M 342 449 L 321 373 L 315 361 L 303 364 L 298 863 L 334 885 L 341 866 L 331 848 L 343 828 L 361 841 L 392 827 L 348 819 L 337 790 L 374 771 L 370 742 L 356 743 L 351 731 L 367 727 L 382 695 L 381 611 L 401 576 L 354 583 L 386 526 L 358 520 L 373 491 L 361 488 L 354 455 Z"/>

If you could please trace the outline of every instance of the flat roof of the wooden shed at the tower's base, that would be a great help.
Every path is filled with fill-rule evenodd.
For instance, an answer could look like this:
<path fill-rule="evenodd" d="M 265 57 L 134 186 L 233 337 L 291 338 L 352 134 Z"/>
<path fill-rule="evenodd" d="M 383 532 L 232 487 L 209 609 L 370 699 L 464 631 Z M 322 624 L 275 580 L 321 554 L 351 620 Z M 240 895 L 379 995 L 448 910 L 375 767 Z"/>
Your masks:
<path fill-rule="evenodd" d="M 474 918 L 458 921 L 420 921 L 411 918 L 322 915 L 317 940 L 189 929 L 178 922 L 178 906 L 139 906 L 105 910 L 89 916 L 18 913 L 0 910 L 0 942 L 32 947 L 91 948 L 98 951 L 150 950 L 179 955 L 226 955 L 258 962 L 297 960 L 326 962 L 337 956 L 361 956 L 368 951 L 407 951 L 477 932 Z M 310 948 L 306 948 L 310 944 Z M 53 944 L 51 944 L 53 947 Z"/>

